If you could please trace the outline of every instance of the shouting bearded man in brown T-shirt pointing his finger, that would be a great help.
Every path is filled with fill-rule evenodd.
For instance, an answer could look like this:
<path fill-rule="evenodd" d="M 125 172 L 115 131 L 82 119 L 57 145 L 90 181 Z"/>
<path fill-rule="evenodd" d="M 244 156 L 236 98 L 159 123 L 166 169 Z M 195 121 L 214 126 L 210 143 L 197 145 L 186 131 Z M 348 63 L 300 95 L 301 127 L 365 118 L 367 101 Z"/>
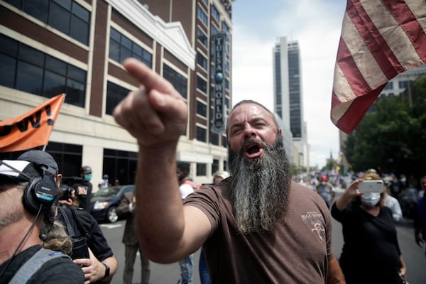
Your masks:
<path fill-rule="evenodd" d="M 182 206 L 175 157 L 187 104 L 143 63 L 124 67 L 141 87 L 114 117 L 138 141 L 136 227 L 148 258 L 173 263 L 202 246 L 212 283 L 344 283 L 329 209 L 291 181 L 271 111 L 236 104 L 226 129 L 231 177 L 202 186 Z"/>

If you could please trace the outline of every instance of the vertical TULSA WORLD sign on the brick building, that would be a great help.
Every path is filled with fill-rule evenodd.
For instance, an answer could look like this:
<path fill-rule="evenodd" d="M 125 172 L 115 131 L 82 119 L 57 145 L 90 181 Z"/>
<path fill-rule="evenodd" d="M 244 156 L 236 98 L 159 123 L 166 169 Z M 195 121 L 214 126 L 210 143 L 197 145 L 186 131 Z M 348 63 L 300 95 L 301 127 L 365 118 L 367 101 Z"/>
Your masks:
<path fill-rule="evenodd" d="M 226 129 L 224 75 L 224 62 L 226 60 L 226 33 L 217 33 L 213 36 L 212 48 L 214 60 L 214 108 L 212 132 L 220 134 Z"/>

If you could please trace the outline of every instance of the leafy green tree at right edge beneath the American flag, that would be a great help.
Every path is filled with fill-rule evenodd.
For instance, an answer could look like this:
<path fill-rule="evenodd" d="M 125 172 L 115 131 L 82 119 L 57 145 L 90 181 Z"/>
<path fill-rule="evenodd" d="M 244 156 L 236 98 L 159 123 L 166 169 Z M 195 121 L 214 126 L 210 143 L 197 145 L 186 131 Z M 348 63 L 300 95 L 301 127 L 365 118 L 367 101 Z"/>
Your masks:
<path fill-rule="evenodd" d="M 426 174 L 426 77 L 413 84 L 408 99 L 383 97 L 348 136 L 344 154 L 355 171 L 375 168 L 382 173 L 419 180 Z"/>

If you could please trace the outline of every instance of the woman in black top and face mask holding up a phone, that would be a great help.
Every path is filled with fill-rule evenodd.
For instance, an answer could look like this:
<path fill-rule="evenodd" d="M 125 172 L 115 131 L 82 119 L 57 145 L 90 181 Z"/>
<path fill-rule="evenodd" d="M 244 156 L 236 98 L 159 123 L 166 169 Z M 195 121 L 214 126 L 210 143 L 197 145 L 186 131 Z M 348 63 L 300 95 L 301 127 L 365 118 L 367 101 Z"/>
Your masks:
<path fill-rule="evenodd" d="M 344 245 L 339 263 L 346 284 L 405 283 L 407 268 L 398 244 L 386 192 L 360 192 L 359 182 L 380 180 L 366 173 L 346 188 L 332 205 L 332 217 L 342 223 Z"/>

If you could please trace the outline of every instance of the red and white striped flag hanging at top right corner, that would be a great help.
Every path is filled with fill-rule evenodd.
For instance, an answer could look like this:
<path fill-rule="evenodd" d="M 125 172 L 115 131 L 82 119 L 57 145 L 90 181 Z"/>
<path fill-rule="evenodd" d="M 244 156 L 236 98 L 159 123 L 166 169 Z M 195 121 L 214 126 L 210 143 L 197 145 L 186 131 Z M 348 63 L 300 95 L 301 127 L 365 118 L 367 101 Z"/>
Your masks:
<path fill-rule="evenodd" d="M 331 119 L 351 133 L 396 75 L 426 63 L 425 0 L 348 0 Z"/>

